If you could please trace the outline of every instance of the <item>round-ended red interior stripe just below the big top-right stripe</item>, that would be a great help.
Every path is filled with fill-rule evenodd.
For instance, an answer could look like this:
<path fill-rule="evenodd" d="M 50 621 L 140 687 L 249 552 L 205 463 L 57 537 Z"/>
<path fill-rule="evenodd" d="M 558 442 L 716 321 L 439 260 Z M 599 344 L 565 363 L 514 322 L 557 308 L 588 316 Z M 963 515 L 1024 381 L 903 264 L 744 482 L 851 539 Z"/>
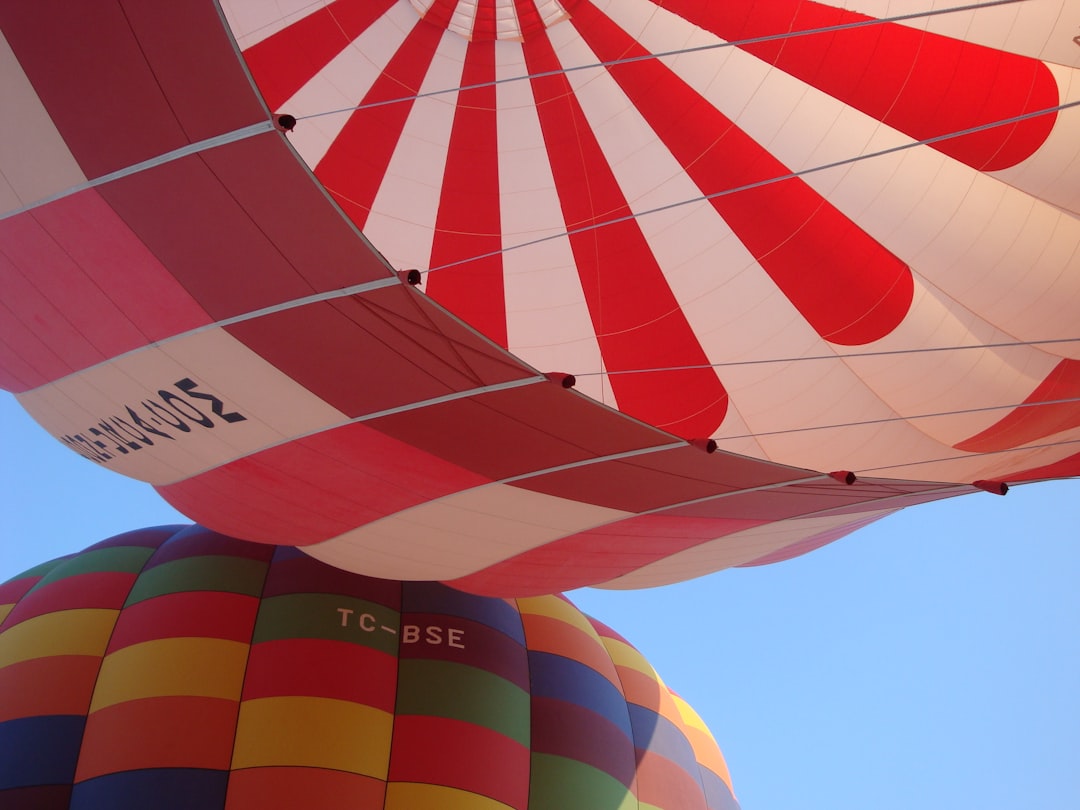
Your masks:
<path fill-rule="evenodd" d="M 603 60 L 648 53 L 588 3 L 575 25 Z M 610 72 L 704 193 L 789 174 L 661 62 L 617 65 Z M 712 204 L 826 340 L 868 343 L 907 313 L 915 288 L 907 266 L 802 180 L 770 183 Z"/>

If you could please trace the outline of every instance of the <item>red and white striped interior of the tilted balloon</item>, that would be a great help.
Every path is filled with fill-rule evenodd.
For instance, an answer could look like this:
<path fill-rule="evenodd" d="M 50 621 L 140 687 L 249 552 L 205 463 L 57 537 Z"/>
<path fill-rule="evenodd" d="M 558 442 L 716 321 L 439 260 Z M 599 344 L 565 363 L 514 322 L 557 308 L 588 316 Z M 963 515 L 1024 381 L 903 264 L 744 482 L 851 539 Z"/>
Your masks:
<path fill-rule="evenodd" d="M 810 469 L 1080 472 L 1076 0 L 222 9 L 342 211 L 532 365 Z"/>

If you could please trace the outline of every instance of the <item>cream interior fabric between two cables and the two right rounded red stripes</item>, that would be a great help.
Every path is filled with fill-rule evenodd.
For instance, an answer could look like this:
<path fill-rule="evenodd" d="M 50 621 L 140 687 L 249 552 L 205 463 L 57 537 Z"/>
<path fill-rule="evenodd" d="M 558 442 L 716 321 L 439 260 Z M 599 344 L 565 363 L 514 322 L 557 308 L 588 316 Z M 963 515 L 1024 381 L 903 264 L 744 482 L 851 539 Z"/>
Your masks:
<path fill-rule="evenodd" d="M 1017 340 L 1075 335 L 1080 219 L 922 147 L 809 181 L 835 181 L 834 204 L 985 322 Z"/>

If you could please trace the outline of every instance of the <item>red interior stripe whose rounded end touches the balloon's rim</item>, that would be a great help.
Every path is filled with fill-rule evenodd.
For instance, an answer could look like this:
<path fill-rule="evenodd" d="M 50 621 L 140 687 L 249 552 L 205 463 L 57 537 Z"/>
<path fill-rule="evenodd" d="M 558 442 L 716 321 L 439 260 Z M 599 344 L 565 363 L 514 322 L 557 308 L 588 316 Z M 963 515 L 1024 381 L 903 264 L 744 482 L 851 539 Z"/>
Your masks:
<path fill-rule="evenodd" d="M 537 37 L 524 49 L 529 72 L 554 71 L 531 81 L 567 227 L 631 215 L 551 43 Z M 635 220 L 573 233 L 570 247 L 608 370 L 707 366 Z M 620 410 L 676 435 L 710 436 L 727 413 L 727 393 L 707 367 L 613 374 L 609 381 Z"/>

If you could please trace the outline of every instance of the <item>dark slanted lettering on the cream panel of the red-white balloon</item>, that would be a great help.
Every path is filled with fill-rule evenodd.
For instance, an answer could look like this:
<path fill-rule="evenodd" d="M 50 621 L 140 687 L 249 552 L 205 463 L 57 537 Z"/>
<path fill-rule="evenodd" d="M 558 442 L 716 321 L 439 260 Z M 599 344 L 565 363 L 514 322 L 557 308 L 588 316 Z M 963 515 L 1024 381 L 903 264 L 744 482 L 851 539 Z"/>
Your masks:
<path fill-rule="evenodd" d="M 167 389 L 159 389 L 157 400 L 146 399 L 136 406 L 125 405 L 127 419 L 114 415 L 105 417 L 84 432 L 60 436 L 60 441 L 80 456 L 105 464 L 118 455 L 126 456 L 144 447 L 152 447 L 151 434 L 175 441 L 176 436 L 170 432 L 170 428 L 180 433 L 190 433 L 192 424 L 214 428 L 219 421 L 231 424 L 247 420 L 243 414 L 226 410 L 225 402 L 219 396 L 199 390 L 199 383 L 190 377 L 177 380 L 173 387 L 189 399 Z M 191 400 L 210 403 L 211 414 L 207 415 Z"/>

